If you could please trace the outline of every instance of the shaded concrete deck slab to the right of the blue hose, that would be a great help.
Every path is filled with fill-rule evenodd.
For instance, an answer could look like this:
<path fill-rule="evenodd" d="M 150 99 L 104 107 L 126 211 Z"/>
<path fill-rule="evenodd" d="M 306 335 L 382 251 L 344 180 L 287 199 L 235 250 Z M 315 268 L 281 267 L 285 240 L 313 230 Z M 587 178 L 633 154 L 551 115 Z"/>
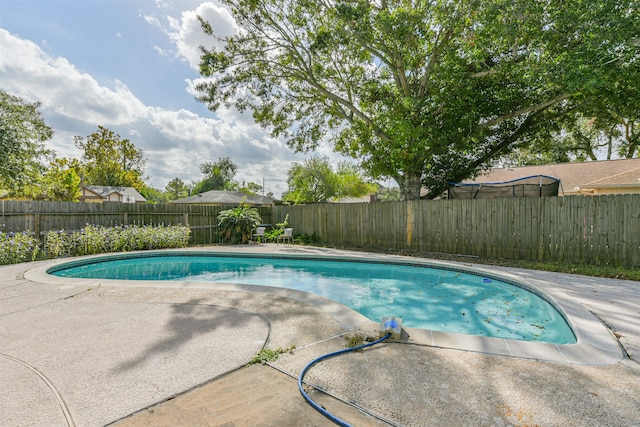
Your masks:
<path fill-rule="evenodd" d="M 348 378 L 345 381 L 344 378 Z M 637 425 L 640 370 L 389 344 L 305 378 L 400 425 Z"/>

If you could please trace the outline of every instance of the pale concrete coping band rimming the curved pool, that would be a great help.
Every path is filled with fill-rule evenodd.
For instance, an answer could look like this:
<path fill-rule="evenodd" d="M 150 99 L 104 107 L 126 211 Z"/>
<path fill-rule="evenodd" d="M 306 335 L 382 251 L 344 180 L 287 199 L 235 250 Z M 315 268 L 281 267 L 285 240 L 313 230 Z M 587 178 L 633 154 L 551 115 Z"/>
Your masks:
<path fill-rule="evenodd" d="M 222 249 L 222 250 L 221 250 Z M 249 250 L 247 250 L 249 249 Z M 286 288 L 274 288 L 258 285 L 239 285 L 229 284 L 222 282 L 188 282 L 188 281 L 128 281 L 128 280 L 112 280 L 112 279 L 70 279 L 60 276 L 53 276 L 47 274 L 46 271 L 50 268 L 68 263 L 73 260 L 81 260 L 88 258 L 100 258 L 111 257 L 118 255 L 149 255 L 152 253 L 185 253 L 185 252 L 197 252 L 200 254 L 229 254 L 237 253 L 239 255 L 251 255 L 251 256 L 274 256 L 278 257 L 277 253 L 273 252 L 255 252 L 250 251 L 250 247 L 242 247 L 238 250 L 229 250 L 229 248 L 216 247 L 212 248 L 187 248 L 187 249 L 171 249 L 162 251 L 138 251 L 138 252 L 126 252 L 126 253 L 111 253 L 100 255 L 89 255 L 83 257 L 74 258 L 61 258 L 55 260 L 45 261 L 44 263 L 31 268 L 24 273 L 25 279 L 28 279 L 37 283 L 45 283 L 57 286 L 57 288 L 95 288 L 98 286 L 113 286 L 113 287 L 147 287 L 147 288 L 184 288 L 184 289 L 216 289 L 222 291 L 243 291 L 243 292 L 262 292 L 278 295 L 285 298 L 311 305 L 334 318 L 345 329 L 366 333 L 367 335 L 375 335 L 378 333 L 378 323 L 366 318 L 364 315 L 351 309 L 350 307 L 340 304 L 331 299 L 322 297 L 320 295 L 307 293 L 304 291 L 296 291 Z M 406 340 L 400 340 L 398 342 L 405 342 L 415 345 L 426 345 L 437 348 L 455 349 L 462 351 L 470 351 L 483 353 L 496 356 L 507 356 L 521 359 L 529 359 L 543 362 L 554 362 L 564 364 L 577 364 L 585 366 L 606 366 L 615 364 L 624 359 L 624 353 L 620 346 L 620 343 L 615 338 L 613 333 L 607 328 L 607 326 L 593 313 L 591 313 L 583 305 L 573 301 L 567 294 L 560 289 L 554 289 L 553 284 L 546 282 L 542 279 L 536 279 L 534 282 L 540 282 L 548 286 L 541 288 L 536 283 L 530 283 L 531 279 L 523 279 L 517 275 L 509 272 L 496 272 L 486 268 L 478 267 L 477 265 L 469 265 L 460 262 L 450 261 L 436 261 L 418 258 L 402 257 L 397 255 L 387 254 L 372 254 L 362 253 L 348 255 L 340 255 L 343 260 L 359 260 L 363 262 L 380 262 L 384 260 L 390 263 L 403 263 L 403 264 L 415 264 L 425 265 L 433 267 L 445 267 L 448 269 L 457 269 L 460 271 L 472 271 L 475 274 L 482 273 L 497 278 L 506 278 L 510 281 L 516 282 L 516 285 L 525 285 L 529 290 L 541 294 L 553 305 L 561 310 L 561 313 L 569 321 L 572 327 L 577 342 L 575 344 L 551 344 L 541 342 L 530 342 L 520 340 L 510 340 L 494 337 L 483 337 L 477 335 L 466 335 L 453 332 L 441 332 L 432 331 L 426 329 L 405 328 L 408 333 Z M 294 253 L 282 253 L 280 257 L 287 258 L 309 258 L 315 257 L 331 259 L 336 255 L 322 254 L 294 254 Z"/>

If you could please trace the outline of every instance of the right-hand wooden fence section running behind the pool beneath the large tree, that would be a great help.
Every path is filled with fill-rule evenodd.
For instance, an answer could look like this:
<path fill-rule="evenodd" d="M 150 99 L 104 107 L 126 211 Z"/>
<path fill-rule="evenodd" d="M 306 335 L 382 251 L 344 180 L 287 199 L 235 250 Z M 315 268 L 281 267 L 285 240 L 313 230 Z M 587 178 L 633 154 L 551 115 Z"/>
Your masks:
<path fill-rule="evenodd" d="M 449 254 L 640 265 L 640 194 L 274 207 L 323 243 Z"/>

